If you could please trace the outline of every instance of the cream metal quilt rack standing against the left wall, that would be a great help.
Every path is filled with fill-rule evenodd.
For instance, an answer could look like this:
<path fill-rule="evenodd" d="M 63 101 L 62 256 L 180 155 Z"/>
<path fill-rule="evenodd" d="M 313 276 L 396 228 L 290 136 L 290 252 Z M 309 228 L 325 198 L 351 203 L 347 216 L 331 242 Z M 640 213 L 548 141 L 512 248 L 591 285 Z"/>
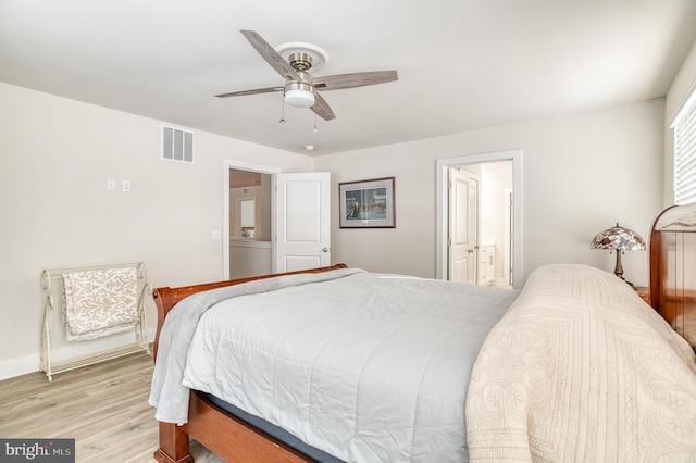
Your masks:
<path fill-rule="evenodd" d="M 53 295 L 51 293 L 51 281 L 58 280 L 62 284 L 62 277 L 64 274 L 72 272 L 84 272 L 92 270 L 105 270 L 105 268 L 129 268 L 135 267 L 138 276 L 138 321 L 135 324 L 135 341 L 130 345 L 117 347 L 114 349 L 102 350 L 99 352 L 90 353 L 74 358 L 67 361 L 53 363 L 51 361 L 51 322 L 53 310 Z M 145 296 L 152 293 L 152 287 L 148 280 L 148 271 L 145 266 L 145 262 L 125 263 L 125 264 L 112 264 L 112 265 L 97 265 L 97 266 L 84 266 L 72 268 L 46 268 L 41 273 L 41 286 L 46 293 L 46 302 L 44 304 L 44 323 L 41 328 L 41 371 L 46 372 L 48 380 L 53 379 L 53 375 L 58 373 L 67 372 L 70 370 L 79 368 L 82 366 L 91 365 L 95 363 L 103 362 L 111 359 L 117 359 L 120 356 L 128 355 L 136 352 L 150 353 L 150 345 L 148 342 L 148 326 L 145 314 Z M 61 317 L 59 313 L 57 316 Z M 62 318 L 62 317 L 61 317 Z"/>

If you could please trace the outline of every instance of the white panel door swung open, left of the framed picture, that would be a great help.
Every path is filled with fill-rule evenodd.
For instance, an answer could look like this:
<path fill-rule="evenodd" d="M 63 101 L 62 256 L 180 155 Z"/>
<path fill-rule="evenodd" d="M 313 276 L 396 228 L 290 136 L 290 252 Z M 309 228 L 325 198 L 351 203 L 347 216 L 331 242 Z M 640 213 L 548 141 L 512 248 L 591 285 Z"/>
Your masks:
<path fill-rule="evenodd" d="M 331 265 L 331 174 L 275 175 L 274 272 Z"/>

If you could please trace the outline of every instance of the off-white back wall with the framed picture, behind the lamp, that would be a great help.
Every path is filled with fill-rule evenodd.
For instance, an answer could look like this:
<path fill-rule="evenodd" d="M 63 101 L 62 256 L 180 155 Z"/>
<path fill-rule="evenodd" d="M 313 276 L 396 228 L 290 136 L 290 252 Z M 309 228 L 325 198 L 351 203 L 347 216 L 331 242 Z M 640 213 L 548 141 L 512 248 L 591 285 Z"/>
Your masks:
<path fill-rule="evenodd" d="M 662 208 L 664 100 L 560 115 L 447 137 L 320 157 L 337 184 L 396 177 L 395 229 L 333 228 L 334 262 L 373 272 L 435 276 L 436 160 L 522 149 L 523 273 L 557 262 L 613 270 L 589 249 L 620 222 L 647 238 Z M 338 223 L 333 210 L 333 224 Z M 625 276 L 647 285 L 646 252 L 626 254 Z"/>

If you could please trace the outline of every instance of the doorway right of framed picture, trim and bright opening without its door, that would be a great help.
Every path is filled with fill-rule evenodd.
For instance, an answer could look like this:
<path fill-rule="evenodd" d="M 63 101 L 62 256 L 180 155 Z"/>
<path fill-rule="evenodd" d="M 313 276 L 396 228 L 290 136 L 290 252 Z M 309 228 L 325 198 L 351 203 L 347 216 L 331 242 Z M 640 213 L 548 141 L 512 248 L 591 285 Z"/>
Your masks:
<path fill-rule="evenodd" d="M 521 150 L 498 151 L 437 161 L 436 277 L 450 279 L 450 187 L 452 170 L 481 179 L 475 210 L 476 281 L 484 285 L 522 286 L 522 174 Z M 514 198 L 514 200 L 513 200 Z M 506 229 L 506 222 L 508 228 Z"/>

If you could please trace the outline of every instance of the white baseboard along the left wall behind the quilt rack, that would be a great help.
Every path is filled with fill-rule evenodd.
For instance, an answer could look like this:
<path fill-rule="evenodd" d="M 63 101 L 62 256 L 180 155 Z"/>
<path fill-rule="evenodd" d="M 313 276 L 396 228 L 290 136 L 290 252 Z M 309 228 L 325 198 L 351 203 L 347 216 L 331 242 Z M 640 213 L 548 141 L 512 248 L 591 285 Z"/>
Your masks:
<path fill-rule="evenodd" d="M 148 329 L 148 340 L 154 340 L 156 329 Z M 127 346 L 133 342 L 133 333 L 125 333 L 84 342 L 72 342 L 70 346 L 51 351 L 51 361 L 61 362 L 73 358 L 89 355 L 102 350 Z M 41 371 L 39 353 L 0 361 L 0 380 Z"/>

